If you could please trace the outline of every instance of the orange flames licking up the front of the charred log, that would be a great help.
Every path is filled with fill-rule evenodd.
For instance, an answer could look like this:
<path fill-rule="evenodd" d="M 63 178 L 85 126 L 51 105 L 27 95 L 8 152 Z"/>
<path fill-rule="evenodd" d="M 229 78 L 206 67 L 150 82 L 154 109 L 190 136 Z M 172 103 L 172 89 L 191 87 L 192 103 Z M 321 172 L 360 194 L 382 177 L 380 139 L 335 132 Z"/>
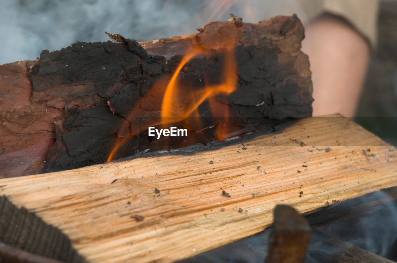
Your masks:
<path fill-rule="evenodd" d="M 222 120 L 229 117 L 227 103 L 216 102 L 215 96 L 219 94 L 228 95 L 235 91 L 235 89 L 237 88 L 237 62 L 234 55 L 234 47 L 232 45 L 229 44 L 224 47 L 224 66 L 222 68 L 220 84 L 206 84 L 204 88 L 198 90 L 193 90 L 190 87 L 191 89 L 189 91 L 189 87 L 182 85 L 178 81 L 179 73 L 181 72 L 183 67 L 189 61 L 191 61 L 191 59 L 198 57 L 199 55 L 208 55 L 210 52 L 211 51 L 199 46 L 192 48 L 191 51 L 187 52 L 187 54 L 183 57 L 182 61 L 179 63 L 178 67 L 173 73 L 172 78 L 166 86 L 164 85 L 164 79 L 158 80 L 153 85 L 153 87 L 150 89 L 150 91 L 148 91 L 145 96 L 164 92 L 164 96 L 162 98 L 160 120 L 156 123 L 148 123 L 144 127 L 139 127 L 139 125 L 137 125 L 137 127 L 132 129 L 131 136 L 137 136 L 140 132 L 148 129 L 148 127 L 150 126 L 166 125 L 169 123 L 184 121 L 188 117 L 198 117 L 198 106 L 200 106 L 200 104 L 202 104 L 204 101 L 208 101 L 211 107 L 212 116 L 215 119 L 218 118 L 220 123 L 222 123 Z M 206 80 L 203 79 L 202 81 Z M 141 116 L 140 111 L 142 108 L 145 108 L 142 107 L 142 104 L 148 103 L 146 101 L 148 100 L 145 100 L 144 97 L 141 101 L 141 107 L 139 106 L 139 104 L 135 106 L 135 108 L 133 108 L 133 110 L 130 112 L 127 119 Z M 186 101 L 189 101 L 187 105 L 185 103 Z M 224 129 L 222 129 L 222 127 L 224 127 Z M 223 125 L 217 126 L 216 135 L 219 140 L 224 140 L 226 138 L 226 127 L 227 123 L 223 123 Z M 127 122 L 123 124 L 120 131 L 121 134 L 129 133 L 129 125 Z M 116 154 L 118 150 L 121 146 L 123 146 L 123 144 L 131 139 L 131 136 L 118 138 L 107 161 L 112 161 L 116 159 Z"/>

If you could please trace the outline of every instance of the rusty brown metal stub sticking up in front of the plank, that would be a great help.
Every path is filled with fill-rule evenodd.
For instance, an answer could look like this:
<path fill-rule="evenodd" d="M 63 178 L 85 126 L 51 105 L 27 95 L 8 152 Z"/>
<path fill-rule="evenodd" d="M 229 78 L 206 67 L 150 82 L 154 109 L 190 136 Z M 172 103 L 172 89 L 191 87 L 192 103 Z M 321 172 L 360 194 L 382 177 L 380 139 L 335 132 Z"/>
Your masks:
<path fill-rule="evenodd" d="M 295 209 L 278 205 L 265 263 L 303 263 L 310 239 L 310 225 Z"/>

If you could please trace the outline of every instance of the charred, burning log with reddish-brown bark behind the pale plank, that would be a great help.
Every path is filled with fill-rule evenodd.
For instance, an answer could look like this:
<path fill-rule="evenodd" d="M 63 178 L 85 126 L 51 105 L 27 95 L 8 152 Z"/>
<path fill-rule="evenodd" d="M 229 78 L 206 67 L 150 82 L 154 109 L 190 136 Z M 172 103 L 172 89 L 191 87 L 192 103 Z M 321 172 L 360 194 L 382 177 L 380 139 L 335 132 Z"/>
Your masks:
<path fill-rule="evenodd" d="M 0 66 L 7 76 L 0 85 L 7 102 L 2 176 L 224 140 L 311 115 L 296 16 L 214 22 L 195 35 L 141 44 L 110 35 L 118 43 L 43 51 L 39 61 L 27 62 L 27 72 L 24 62 Z M 148 127 L 171 126 L 189 135 L 148 136 Z"/>

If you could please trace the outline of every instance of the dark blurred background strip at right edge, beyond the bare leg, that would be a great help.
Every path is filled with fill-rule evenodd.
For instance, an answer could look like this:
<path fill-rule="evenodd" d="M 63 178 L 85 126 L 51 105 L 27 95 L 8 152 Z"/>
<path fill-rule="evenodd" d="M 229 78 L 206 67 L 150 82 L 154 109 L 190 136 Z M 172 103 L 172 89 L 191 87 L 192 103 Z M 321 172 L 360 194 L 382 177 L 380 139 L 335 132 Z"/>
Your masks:
<path fill-rule="evenodd" d="M 397 146 L 397 0 L 382 0 L 378 47 L 370 60 L 355 121 Z"/>

